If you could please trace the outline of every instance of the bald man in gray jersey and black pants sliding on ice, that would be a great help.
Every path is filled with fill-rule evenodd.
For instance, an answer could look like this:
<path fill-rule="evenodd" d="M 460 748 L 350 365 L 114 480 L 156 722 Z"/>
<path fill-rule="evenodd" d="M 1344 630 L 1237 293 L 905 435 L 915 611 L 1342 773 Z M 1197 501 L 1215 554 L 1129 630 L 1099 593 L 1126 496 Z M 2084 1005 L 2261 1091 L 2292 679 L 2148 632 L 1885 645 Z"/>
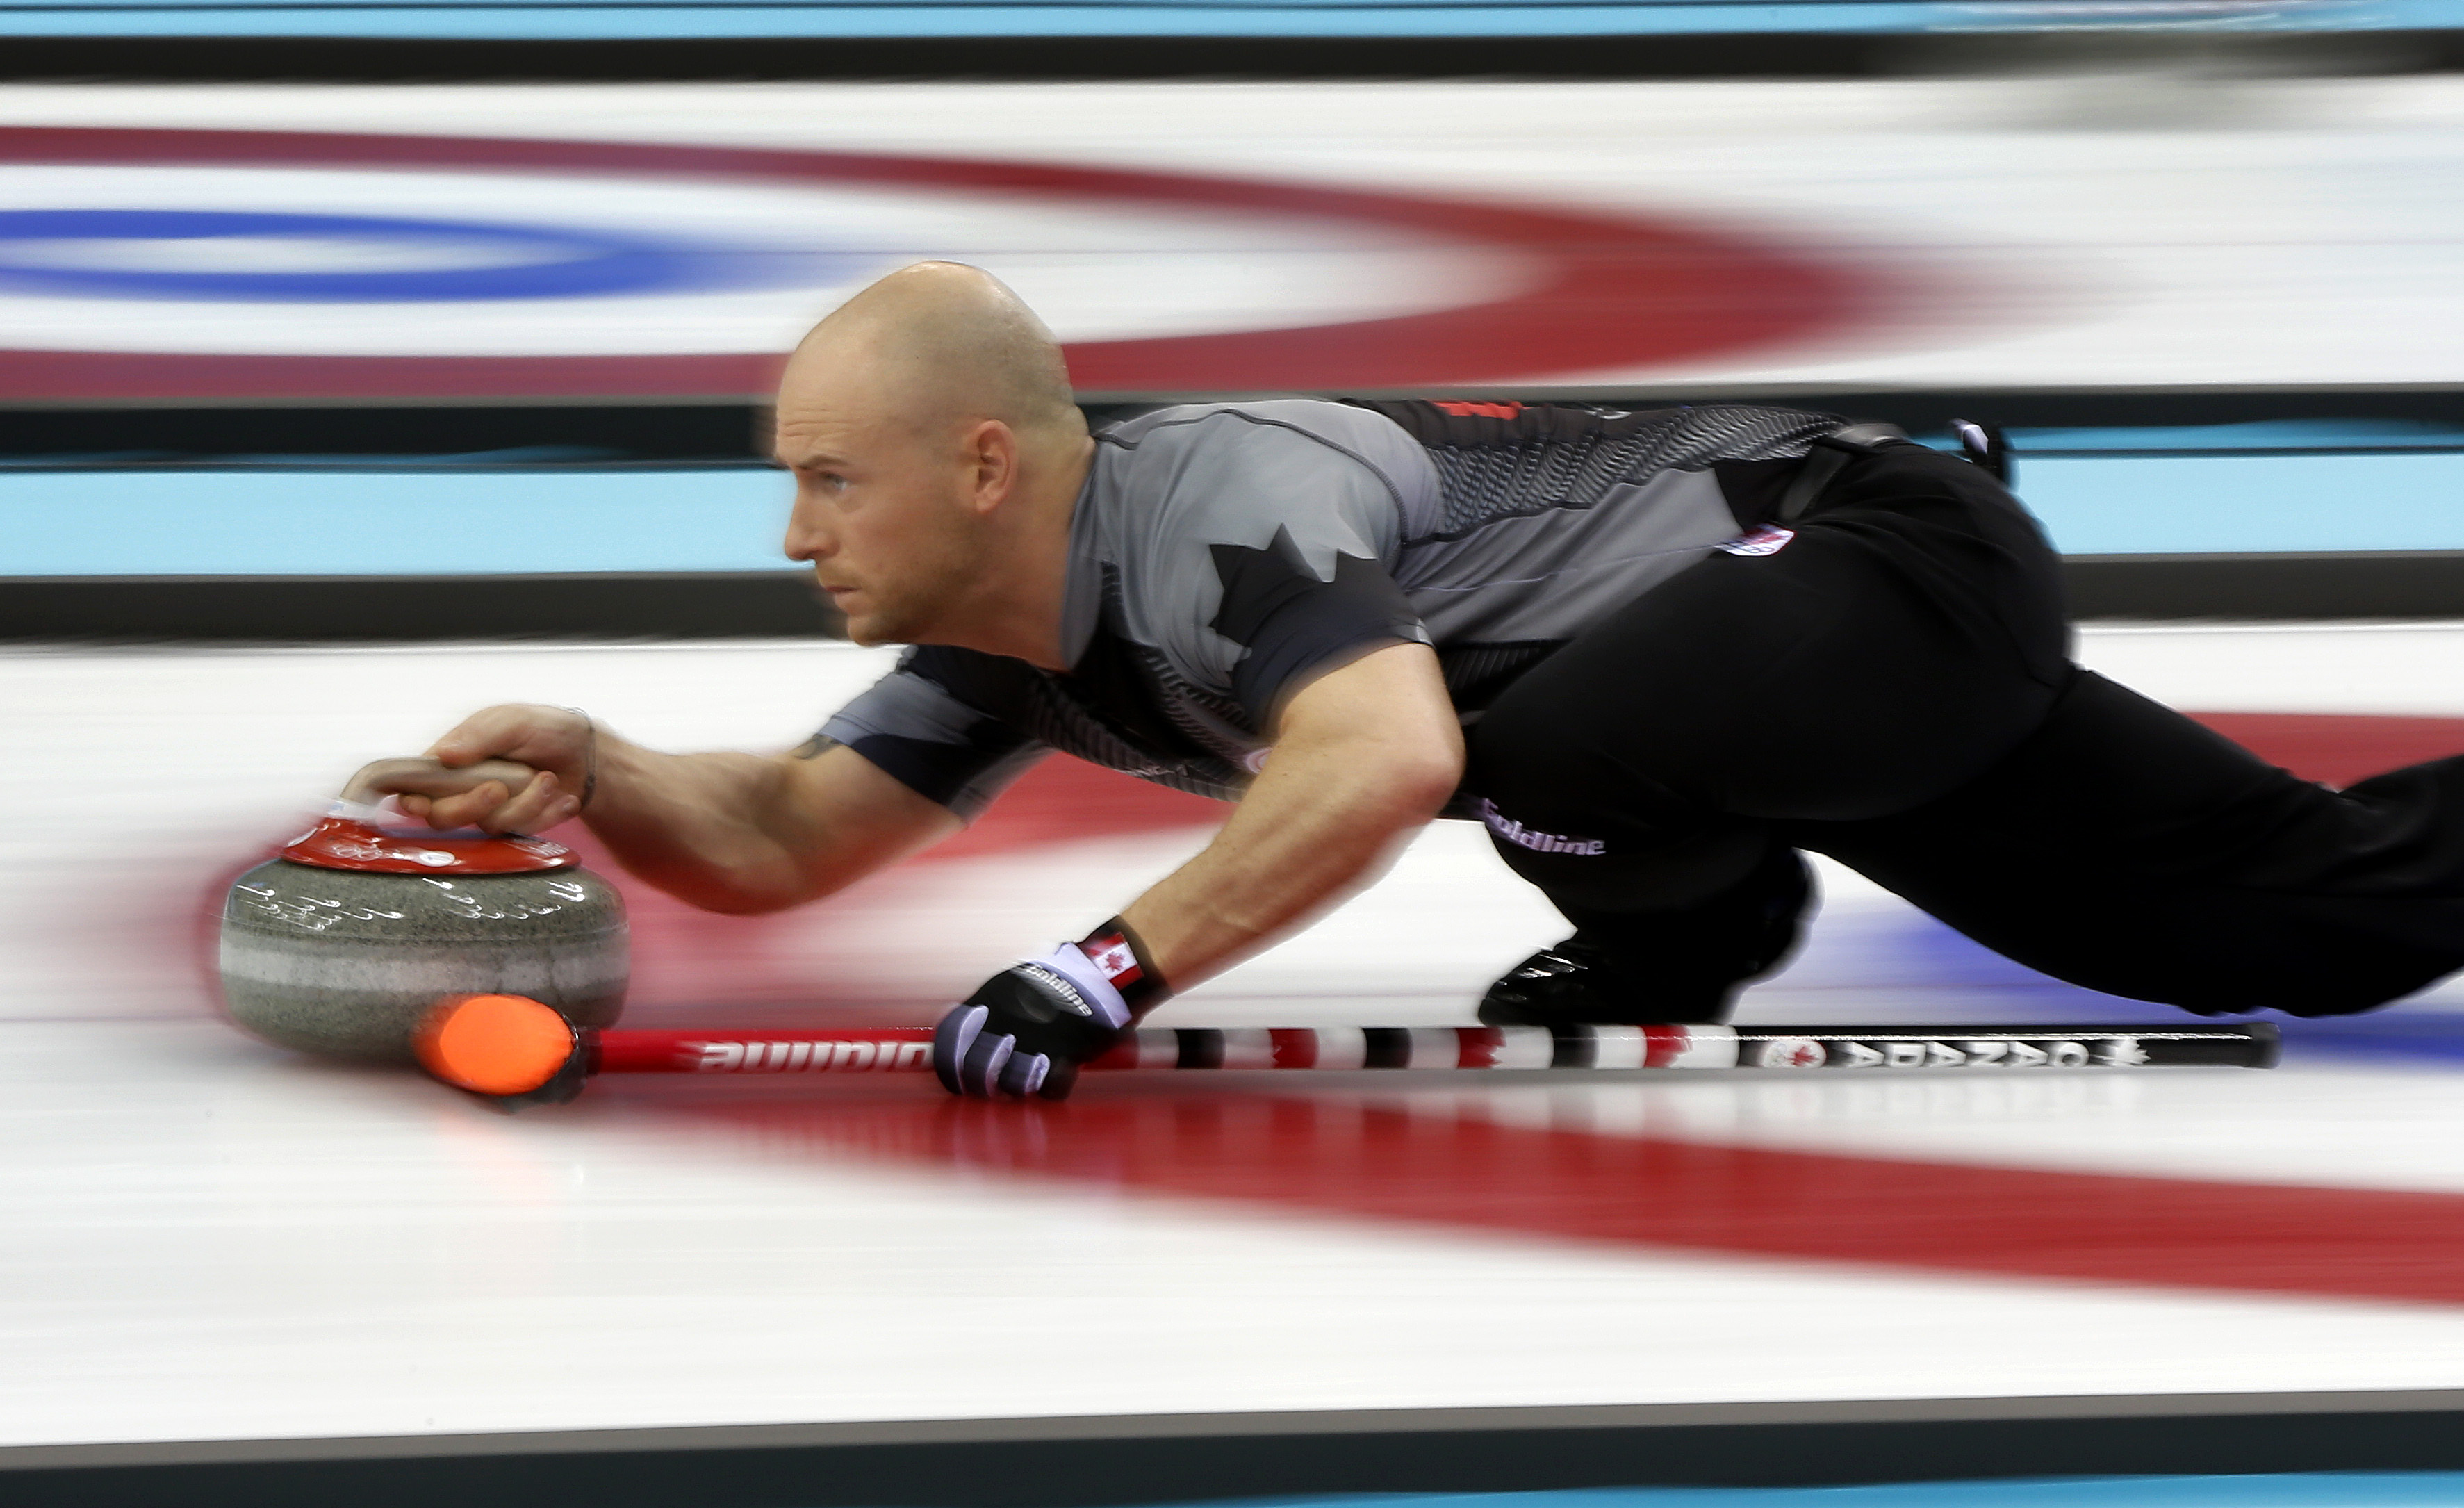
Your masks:
<path fill-rule="evenodd" d="M 1089 436 L 1035 315 L 919 264 L 796 350 L 776 456 L 786 552 L 848 636 L 919 646 L 887 680 L 781 756 L 493 707 L 434 754 L 540 774 L 409 803 L 582 813 L 653 885 L 759 912 L 946 838 L 1052 749 L 1237 801 L 949 1013 L 954 1092 L 1067 1094 L 1441 811 L 1574 924 L 1488 1023 L 1717 1020 L 1796 939 L 1799 850 L 2200 1013 L 2363 1010 L 2464 966 L 2464 761 L 2333 793 L 2080 670 L 2028 515 L 1885 426 L 1286 399 Z"/>

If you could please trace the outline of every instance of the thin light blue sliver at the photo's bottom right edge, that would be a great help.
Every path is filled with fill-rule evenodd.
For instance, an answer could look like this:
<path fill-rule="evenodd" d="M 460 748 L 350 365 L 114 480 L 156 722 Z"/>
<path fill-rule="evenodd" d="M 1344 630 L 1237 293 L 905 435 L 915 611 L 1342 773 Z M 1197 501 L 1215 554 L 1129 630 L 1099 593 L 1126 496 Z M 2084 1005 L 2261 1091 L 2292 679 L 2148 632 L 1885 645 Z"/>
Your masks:
<path fill-rule="evenodd" d="M 2053 1476 L 1836 1488 L 1582 1488 L 1249 1498 L 1239 1508 L 2464 1508 L 2464 1471 Z"/>

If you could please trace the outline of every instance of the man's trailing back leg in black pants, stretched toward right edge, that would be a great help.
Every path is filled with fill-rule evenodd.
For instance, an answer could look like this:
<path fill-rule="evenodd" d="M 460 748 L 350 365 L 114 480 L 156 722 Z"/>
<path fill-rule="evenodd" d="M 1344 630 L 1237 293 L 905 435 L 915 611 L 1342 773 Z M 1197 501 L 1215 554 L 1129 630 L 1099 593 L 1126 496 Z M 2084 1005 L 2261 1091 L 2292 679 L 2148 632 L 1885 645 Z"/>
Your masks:
<path fill-rule="evenodd" d="M 1961 791 L 1786 835 L 2030 968 L 2203 1015 L 2464 968 L 2464 756 L 2328 791 L 2089 673 Z"/>

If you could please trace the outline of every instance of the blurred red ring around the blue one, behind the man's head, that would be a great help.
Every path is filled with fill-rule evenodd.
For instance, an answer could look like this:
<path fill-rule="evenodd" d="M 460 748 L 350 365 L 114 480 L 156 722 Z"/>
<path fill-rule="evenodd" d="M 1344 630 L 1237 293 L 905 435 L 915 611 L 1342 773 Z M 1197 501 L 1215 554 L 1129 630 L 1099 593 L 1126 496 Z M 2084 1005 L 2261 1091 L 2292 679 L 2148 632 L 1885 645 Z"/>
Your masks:
<path fill-rule="evenodd" d="M 1079 343 L 1069 347 L 1069 372 L 1087 392 L 1358 392 L 1666 365 L 1836 338 L 1873 323 L 1880 308 L 1892 303 L 1875 274 L 1668 219 L 1060 163 L 601 140 L 67 126 L 0 128 L 0 160 L 549 170 L 998 190 L 1348 219 L 1437 241 L 1506 249 L 1540 264 L 1540 276 L 1520 293 L 1434 313 L 1289 330 Z M 0 350 L 0 402 L 705 397 L 764 392 L 774 367 L 776 357 L 759 352 L 333 357 Z"/>

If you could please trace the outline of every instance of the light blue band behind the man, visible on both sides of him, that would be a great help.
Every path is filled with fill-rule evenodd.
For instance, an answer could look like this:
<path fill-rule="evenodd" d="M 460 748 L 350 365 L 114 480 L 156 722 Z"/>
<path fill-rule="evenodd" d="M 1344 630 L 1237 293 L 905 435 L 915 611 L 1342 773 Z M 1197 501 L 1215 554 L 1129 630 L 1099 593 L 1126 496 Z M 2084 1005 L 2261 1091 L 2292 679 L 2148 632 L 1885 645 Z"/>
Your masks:
<path fill-rule="evenodd" d="M 2464 453 L 2030 456 L 2065 554 L 2464 549 Z M 0 471 L 0 577 L 786 569 L 766 468 Z"/>

